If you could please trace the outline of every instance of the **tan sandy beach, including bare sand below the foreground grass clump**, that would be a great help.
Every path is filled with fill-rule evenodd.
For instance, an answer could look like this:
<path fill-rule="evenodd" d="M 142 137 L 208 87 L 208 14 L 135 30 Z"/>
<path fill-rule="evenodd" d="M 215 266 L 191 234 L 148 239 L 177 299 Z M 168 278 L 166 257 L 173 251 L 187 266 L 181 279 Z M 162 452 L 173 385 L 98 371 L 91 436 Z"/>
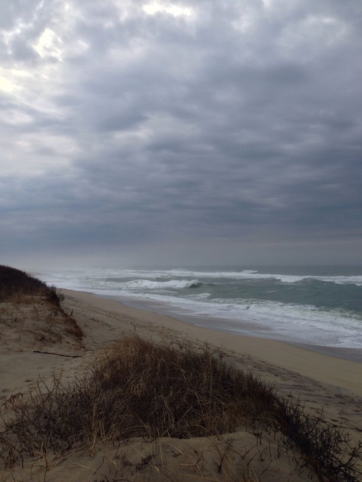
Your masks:
<path fill-rule="evenodd" d="M 306 410 L 321 413 L 325 420 L 334 425 L 343 425 L 350 430 L 352 439 L 361 438 L 362 420 L 362 364 L 316 353 L 279 341 L 241 337 L 215 332 L 182 322 L 167 315 L 156 314 L 127 307 L 118 301 L 94 296 L 91 293 L 62 290 L 65 299 L 62 308 L 72 314 L 84 332 L 82 340 L 69 333 L 54 331 L 51 341 L 32 338 L 37 327 L 39 313 L 33 308 L 29 312 L 14 313 L 2 308 L 1 319 L 21 320 L 17 330 L 1 332 L 0 357 L 0 401 L 3 403 L 14 394 L 26 394 L 37 384 L 40 376 L 46 383 L 51 382 L 53 373 L 62 374 L 66 381 L 84 373 L 105 350 L 127 336 L 138 335 L 143 339 L 166 345 L 192 342 L 195 347 L 208 342 L 211 347 L 221 347 L 227 361 L 243 370 L 252 370 L 267 382 L 275 384 L 278 394 L 292 394 L 300 398 Z M 5 311 L 4 311 L 5 310 Z M 5 313 L 6 312 L 6 313 Z M 15 316 L 15 318 L 14 318 Z M 60 316 L 60 314 L 59 314 Z M 57 322 L 60 318 L 54 317 Z M 38 323 L 39 324 L 39 323 Z M 15 326 L 13 323 L 12 326 Z M 36 352 L 35 352 L 35 351 Z M 39 353 L 40 352 L 40 353 Z M 180 480 L 187 474 L 187 480 L 242 480 L 234 478 L 229 467 L 229 478 L 225 470 L 217 471 L 216 454 L 223 453 L 229 436 L 207 437 L 202 440 L 159 439 L 155 442 L 135 440 L 115 448 L 94 445 L 90 452 L 72 453 L 49 460 L 44 464 L 28 461 L 24 468 L 14 466 L 1 474 L 1 480 L 16 481 L 111 481 L 111 480 Z M 270 437 L 272 438 L 272 437 Z M 242 458 L 248 480 L 292 481 L 318 480 L 310 467 L 301 467 L 291 455 L 280 459 L 273 453 L 269 440 L 270 457 L 260 456 L 260 447 L 255 443 L 255 434 L 245 430 L 232 434 L 230 461 L 235 460 L 241 447 L 254 447 L 250 462 Z M 275 442 L 275 440 L 274 440 Z M 266 442 L 264 442 L 266 443 Z M 127 447 L 126 447 L 127 445 Z M 172 450 L 170 447 L 173 447 Z M 236 447 L 239 449 L 237 450 Z M 250 449 L 251 450 L 251 449 Z M 262 449 L 264 450 L 264 449 Z M 277 451 L 277 449 L 275 449 Z M 122 452 L 123 451 L 123 452 Z M 152 452 L 153 451 L 153 452 Z M 195 452 L 196 451 L 196 452 Z M 254 452 L 255 454 L 254 454 Z M 151 462 L 135 470 L 140 460 L 146 460 L 150 452 Z M 238 453 L 239 453 L 238 452 Z M 247 450 L 244 451 L 245 453 Z M 120 453 L 128 454 L 121 463 Z M 226 453 L 226 452 L 225 452 Z M 182 455 L 181 455 L 182 454 Z M 201 456 L 200 456 L 201 454 Z M 258 455 L 259 454 L 259 455 Z M 133 457 L 133 458 L 132 458 Z M 141 459 L 137 462 L 137 457 Z M 298 457 L 297 457 L 298 458 Z M 201 462 L 203 460 L 203 462 Z M 249 460 L 249 462 L 247 462 Z M 156 463 L 157 461 L 157 463 Z M 361 460 L 360 460 L 361 462 Z M 31 465 L 31 470 L 29 469 Z M 269 466 L 268 466 L 269 464 Z M 45 468 L 46 465 L 46 468 Z M 132 468 L 133 467 L 133 468 Z M 252 468 L 252 472 L 251 472 Z M 11 470 L 10 470 L 11 469 Z M 256 475 L 254 475 L 254 472 Z M 120 475 L 121 474 L 121 475 Z M 108 478 L 106 478 L 108 477 Z M 120 478 L 122 477 L 122 478 Z M 223 478 L 222 478 L 223 477 Z M 236 477 L 236 476 L 235 476 Z"/>

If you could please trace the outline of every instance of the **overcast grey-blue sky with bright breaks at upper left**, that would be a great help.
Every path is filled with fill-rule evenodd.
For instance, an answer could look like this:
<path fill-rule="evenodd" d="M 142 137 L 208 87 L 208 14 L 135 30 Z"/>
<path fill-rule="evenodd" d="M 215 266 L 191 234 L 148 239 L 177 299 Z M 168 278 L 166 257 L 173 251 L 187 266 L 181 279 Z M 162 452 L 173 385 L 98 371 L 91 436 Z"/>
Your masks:
<path fill-rule="evenodd" d="M 360 0 L 0 0 L 0 263 L 362 265 Z"/>

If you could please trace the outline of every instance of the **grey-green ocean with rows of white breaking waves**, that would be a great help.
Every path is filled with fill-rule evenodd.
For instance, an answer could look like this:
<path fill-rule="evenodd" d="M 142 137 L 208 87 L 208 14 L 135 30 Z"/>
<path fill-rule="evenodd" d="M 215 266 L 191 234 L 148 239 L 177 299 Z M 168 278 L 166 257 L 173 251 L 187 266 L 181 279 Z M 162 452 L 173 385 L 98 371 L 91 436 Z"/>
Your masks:
<path fill-rule="evenodd" d="M 235 335 L 362 349 L 362 267 L 223 266 L 34 273 L 59 288 Z"/>

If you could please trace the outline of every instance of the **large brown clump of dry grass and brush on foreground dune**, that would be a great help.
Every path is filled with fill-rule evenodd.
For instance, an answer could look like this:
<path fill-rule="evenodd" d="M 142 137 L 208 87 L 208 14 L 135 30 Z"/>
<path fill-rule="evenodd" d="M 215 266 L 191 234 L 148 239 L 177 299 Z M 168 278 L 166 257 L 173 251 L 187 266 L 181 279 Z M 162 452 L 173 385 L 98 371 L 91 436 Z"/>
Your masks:
<path fill-rule="evenodd" d="M 292 453 L 296 447 L 321 481 L 361 480 L 356 462 L 362 442 L 353 447 L 342 427 L 305 413 L 291 397 L 278 397 L 272 386 L 230 366 L 208 346 L 129 338 L 73 384 L 56 376 L 53 381 L 48 387 L 40 380 L 29 398 L 5 402 L 13 413 L 0 432 L 6 466 L 26 454 L 65 454 L 96 442 L 219 435 L 246 425 L 283 432 L 285 445 Z"/>

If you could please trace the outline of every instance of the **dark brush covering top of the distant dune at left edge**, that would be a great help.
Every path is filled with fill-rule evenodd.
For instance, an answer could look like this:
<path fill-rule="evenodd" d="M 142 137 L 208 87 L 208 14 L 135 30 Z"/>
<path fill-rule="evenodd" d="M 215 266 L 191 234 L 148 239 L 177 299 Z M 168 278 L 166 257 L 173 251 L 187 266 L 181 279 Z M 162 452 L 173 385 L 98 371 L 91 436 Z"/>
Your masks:
<path fill-rule="evenodd" d="M 60 306 L 61 296 L 55 286 L 48 286 L 25 271 L 0 265 L 0 302 L 19 296 L 42 296 Z"/>

